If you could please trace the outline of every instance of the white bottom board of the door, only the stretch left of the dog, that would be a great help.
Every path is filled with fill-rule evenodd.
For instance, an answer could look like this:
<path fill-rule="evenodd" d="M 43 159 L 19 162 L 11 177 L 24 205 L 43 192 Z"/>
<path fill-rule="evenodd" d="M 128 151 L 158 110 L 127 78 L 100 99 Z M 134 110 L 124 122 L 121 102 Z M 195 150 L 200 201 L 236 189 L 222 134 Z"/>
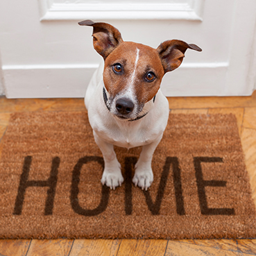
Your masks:
<path fill-rule="evenodd" d="M 8 65 L 8 98 L 80 98 L 98 65 Z"/>

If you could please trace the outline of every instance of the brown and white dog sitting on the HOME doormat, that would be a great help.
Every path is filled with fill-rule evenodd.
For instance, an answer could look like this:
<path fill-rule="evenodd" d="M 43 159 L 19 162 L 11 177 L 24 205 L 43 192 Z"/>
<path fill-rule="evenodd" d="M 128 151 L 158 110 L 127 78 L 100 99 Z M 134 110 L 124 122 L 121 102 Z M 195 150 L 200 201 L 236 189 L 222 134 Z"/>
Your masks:
<path fill-rule="evenodd" d="M 153 182 L 153 153 L 169 118 L 169 102 L 160 90 L 162 77 L 180 66 L 187 49 L 202 49 L 180 40 L 168 40 L 153 49 L 123 42 L 110 24 L 91 20 L 78 24 L 93 27 L 94 49 L 104 60 L 85 94 L 89 123 L 104 159 L 101 183 L 115 189 L 123 182 L 114 145 L 142 146 L 133 183 L 147 190 Z"/>

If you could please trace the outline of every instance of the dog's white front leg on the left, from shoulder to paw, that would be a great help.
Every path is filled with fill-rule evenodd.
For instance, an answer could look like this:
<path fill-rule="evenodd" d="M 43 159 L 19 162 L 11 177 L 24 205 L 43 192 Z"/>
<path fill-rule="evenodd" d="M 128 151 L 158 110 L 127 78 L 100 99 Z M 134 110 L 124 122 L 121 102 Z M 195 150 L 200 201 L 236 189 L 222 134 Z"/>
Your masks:
<path fill-rule="evenodd" d="M 123 176 L 121 174 L 121 164 L 118 162 L 117 155 L 114 152 L 114 146 L 105 142 L 96 133 L 94 133 L 94 139 L 101 149 L 105 163 L 101 183 L 107 185 L 111 189 L 115 189 L 116 187 L 121 186 Z"/>

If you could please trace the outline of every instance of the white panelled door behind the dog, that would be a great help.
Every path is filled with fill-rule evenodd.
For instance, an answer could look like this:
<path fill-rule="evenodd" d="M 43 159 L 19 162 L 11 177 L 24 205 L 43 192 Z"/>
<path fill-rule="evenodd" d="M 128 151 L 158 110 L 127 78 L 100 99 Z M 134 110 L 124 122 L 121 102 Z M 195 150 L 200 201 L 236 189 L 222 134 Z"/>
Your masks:
<path fill-rule="evenodd" d="M 6 96 L 83 97 L 101 61 L 92 28 L 77 24 L 83 19 L 108 22 L 123 40 L 155 48 L 171 39 L 200 46 L 164 76 L 166 96 L 253 92 L 255 0 L 10 0 L 0 1 Z"/>

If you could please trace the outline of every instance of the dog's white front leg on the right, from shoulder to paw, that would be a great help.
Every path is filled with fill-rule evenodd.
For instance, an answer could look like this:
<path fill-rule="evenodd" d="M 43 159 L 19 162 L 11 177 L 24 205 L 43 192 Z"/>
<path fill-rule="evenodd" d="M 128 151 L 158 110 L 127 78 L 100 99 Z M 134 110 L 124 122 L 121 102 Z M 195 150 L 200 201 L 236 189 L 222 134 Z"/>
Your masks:
<path fill-rule="evenodd" d="M 151 167 L 152 157 L 161 139 L 162 135 L 151 144 L 142 147 L 142 153 L 139 156 L 138 162 L 135 164 L 135 176 L 133 177 L 135 186 L 138 185 L 145 190 L 151 186 L 153 182 L 153 171 Z"/>

